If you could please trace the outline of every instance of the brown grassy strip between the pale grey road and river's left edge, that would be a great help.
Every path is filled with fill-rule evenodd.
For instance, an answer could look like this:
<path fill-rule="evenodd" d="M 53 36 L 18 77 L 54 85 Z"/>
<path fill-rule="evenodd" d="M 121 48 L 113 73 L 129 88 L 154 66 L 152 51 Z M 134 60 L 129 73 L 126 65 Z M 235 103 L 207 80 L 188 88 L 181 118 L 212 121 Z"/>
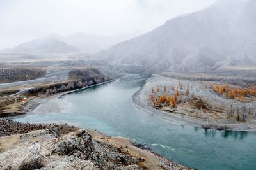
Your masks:
<path fill-rule="evenodd" d="M 0 118 L 3 117 L 17 117 L 33 111 L 41 101 L 45 99 L 51 99 L 52 97 L 61 97 L 65 94 L 70 94 L 79 90 L 84 90 L 97 85 L 103 85 L 110 83 L 116 79 L 107 80 L 93 85 L 86 85 L 82 87 L 73 85 L 74 87 L 67 90 L 58 90 L 59 88 L 66 87 L 65 84 L 70 84 L 70 81 L 61 83 L 49 83 L 38 84 L 33 87 L 15 87 L 10 89 L 4 89 L 0 91 Z M 22 89 L 27 88 L 26 92 L 19 93 Z M 55 92 L 49 93 L 49 90 L 55 90 Z M 23 90 L 24 91 L 24 90 Z M 24 100 L 26 99 L 26 100 Z"/>

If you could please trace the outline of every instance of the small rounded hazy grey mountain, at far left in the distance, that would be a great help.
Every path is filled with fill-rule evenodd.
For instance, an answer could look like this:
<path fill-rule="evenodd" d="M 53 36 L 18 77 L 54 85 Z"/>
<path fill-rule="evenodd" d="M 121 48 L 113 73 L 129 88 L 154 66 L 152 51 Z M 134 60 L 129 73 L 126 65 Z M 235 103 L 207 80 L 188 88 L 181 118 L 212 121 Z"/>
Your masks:
<path fill-rule="evenodd" d="M 22 43 L 15 48 L 4 50 L 8 53 L 66 53 L 75 52 L 78 49 L 75 46 L 54 38 L 33 39 Z"/>

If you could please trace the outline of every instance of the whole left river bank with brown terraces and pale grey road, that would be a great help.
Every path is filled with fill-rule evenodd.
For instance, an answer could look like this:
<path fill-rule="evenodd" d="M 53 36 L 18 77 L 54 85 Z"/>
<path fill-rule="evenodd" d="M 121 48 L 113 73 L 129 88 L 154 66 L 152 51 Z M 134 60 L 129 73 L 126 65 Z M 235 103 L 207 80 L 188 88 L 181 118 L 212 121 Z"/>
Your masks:
<path fill-rule="evenodd" d="M 33 109 L 35 106 L 31 102 L 32 104 L 28 104 L 31 106 L 27 107 L 27 103 L 37 98 L 73 92 L 122 76 L 109 67 L 98 66 L 96 63 L 95 66 L 88 66 L 90 62 L 83 61 L 72 61 L 71 65 L 68 62 L 64 66 L 52 66 L 50 63 L 49 66 L 44 66 L 43 62 L 43 67 L 32 66 L 32 63 L 1 64 L 4 80 L 0 83 L 0 118 L 28 113 L 26 109 Z M 29 73 L 26 68 L 30 68 Z M 37 69 L 44 70 L 44 74 L 37 75 Z"/>

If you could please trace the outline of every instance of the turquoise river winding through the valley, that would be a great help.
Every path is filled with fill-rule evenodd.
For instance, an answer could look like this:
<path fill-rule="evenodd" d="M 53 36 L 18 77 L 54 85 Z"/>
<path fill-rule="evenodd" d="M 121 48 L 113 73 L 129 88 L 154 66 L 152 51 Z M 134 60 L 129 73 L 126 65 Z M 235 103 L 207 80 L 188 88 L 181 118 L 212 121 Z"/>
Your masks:
<path fill-rule="evenodd" d="M 145 143 L 168 159 L 197 169 L 256 169 L 256 133 L 177 125 L 138 110 L 132 94 L 147 76 L 114 82 L 44 101 L 20 122 L 67 122 Z"/>

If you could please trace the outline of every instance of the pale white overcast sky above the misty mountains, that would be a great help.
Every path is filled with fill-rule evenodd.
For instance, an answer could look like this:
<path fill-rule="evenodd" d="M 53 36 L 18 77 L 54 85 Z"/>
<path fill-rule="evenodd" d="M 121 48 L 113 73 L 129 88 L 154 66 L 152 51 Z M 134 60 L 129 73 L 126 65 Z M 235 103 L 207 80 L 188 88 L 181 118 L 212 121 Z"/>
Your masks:
<path fill-rule="evenodd" d="M 144 33 L 216 0 L 1 0 L 0 49 L 49 34 Z"/>

